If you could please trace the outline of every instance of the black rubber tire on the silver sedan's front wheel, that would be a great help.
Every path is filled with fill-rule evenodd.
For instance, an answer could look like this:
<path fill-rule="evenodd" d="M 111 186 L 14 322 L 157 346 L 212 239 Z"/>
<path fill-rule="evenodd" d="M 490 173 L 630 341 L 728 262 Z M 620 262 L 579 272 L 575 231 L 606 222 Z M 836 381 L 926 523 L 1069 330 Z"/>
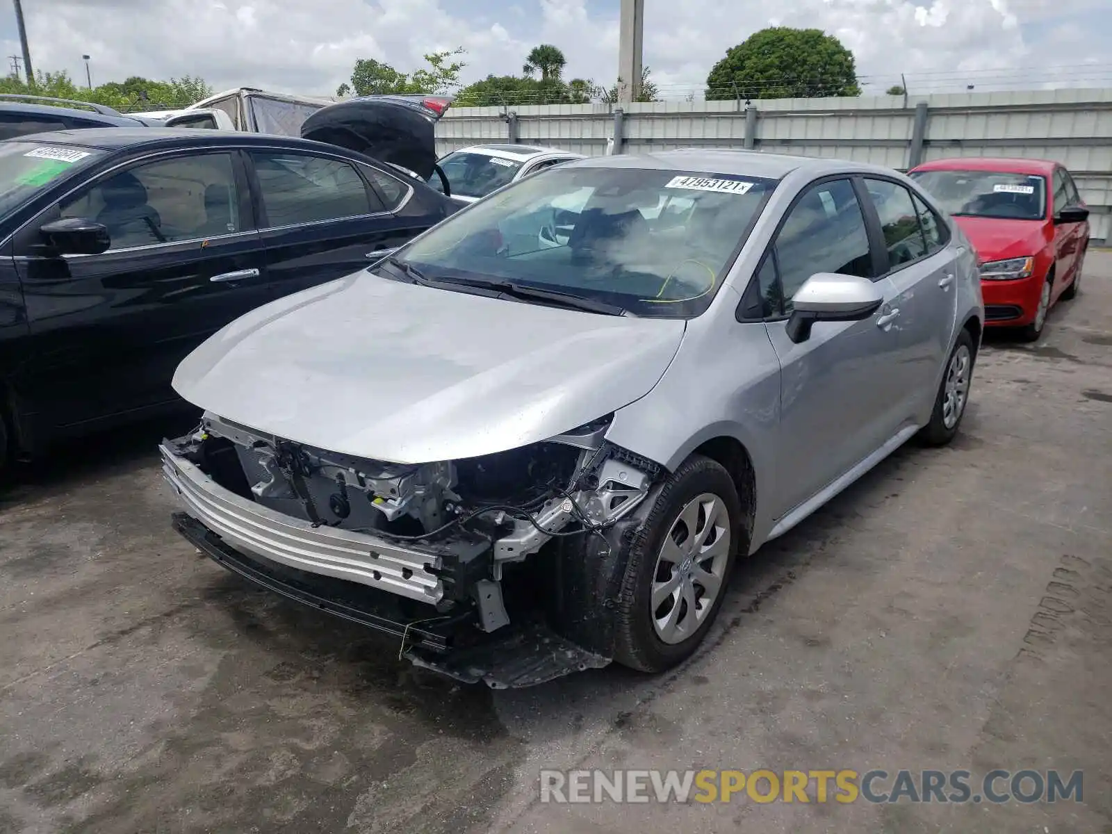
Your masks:
<path fill-rule="evenodd" d="M 682 524 L 681 512 L 703 494 L 711 494 L 722 500 L 729 523 L 728 555 L 717 594 L 707 613 L 703 615 L 703 622 L 681 642 L 667 643 L 658 636 L 653 622 L 651 600 L 658 568 L 657 557 L 665 537 L 672 534 L 676 525 Z M 614 659 L 641 672 L 664 672 L 689 657 L 703 642 L 726 596 L 736 555 L 748 554 L 749 540 L 742 523 L 742 504 L 737 496 L 737 487 L 729 473 L 711 458 L 701 455 L 689 457 L 664 483 L 655 499 L 651 500 L 653 504 L 633 543 L 628 546 L 625 576 L 615 612 Z M 696 512 L 697 517 L 705 523 L 703 512 L 701 509 Z M 713 538 L 709 540 L 713 544 Z M 684 565 L 688 565 L 689 570 L 691 559 L 686 559 Z M 681 569 L 683 567 L 676 565 L 675 570 L 678 573 Z M 699 603 L 702 599 L 703 596 L 697 596 Z M 678 618 L 683 619 L 682 612 L 688 610 L 687 604 L 677 596 L 673 605 L 683 606 L 677 612 Z"/>

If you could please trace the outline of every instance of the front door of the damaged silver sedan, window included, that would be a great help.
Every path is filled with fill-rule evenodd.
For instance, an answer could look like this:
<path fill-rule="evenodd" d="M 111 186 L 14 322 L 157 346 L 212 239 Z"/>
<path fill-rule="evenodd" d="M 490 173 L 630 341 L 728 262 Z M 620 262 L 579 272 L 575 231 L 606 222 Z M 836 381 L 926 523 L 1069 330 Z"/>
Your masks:
<path fill-rule="evenodd" d="M 877 261 L 853 183 L 810 186 L 795 201 L 758 274 L 781 364 L 776 516 L 806 502 L 882 446 L 898 427 L 895 288 L 876 278 L 884 305 L 863 321 L 816 322 L 796 345 L 786 332 L 792 298 L 812 275 L 873 278 Z"/>

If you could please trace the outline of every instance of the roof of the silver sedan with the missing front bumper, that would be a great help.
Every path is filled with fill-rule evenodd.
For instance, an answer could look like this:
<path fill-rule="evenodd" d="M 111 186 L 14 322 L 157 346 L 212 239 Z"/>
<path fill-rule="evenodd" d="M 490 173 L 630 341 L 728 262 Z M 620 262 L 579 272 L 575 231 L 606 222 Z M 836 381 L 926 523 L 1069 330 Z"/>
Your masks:
<path fill-rule="evenodd" d="M 891 168 L 851 162 L 844 159 L 796 157 L 732 148 L 681 148 L 653 153 L 585 157 L 567 163 L 568 168 L 657 168 L 674 171 L 725 173 L 737 177 L 783 179 L 795 170 L 821 177 L 827 173 L 892 175 Z"/>

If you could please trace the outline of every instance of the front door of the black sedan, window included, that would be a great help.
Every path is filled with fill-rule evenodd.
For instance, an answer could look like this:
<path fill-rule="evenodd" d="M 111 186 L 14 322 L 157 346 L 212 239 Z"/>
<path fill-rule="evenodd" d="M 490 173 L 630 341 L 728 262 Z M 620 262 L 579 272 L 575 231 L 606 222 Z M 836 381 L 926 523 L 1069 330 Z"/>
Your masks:
<path fill-rule="evenodd" d="M 17 380 L 48 431 L 177 403 L 173 371 L 265 304 L 258 232 L 237 151 L 161 155 L 96 180 L 17 236 L 29 360 Z M 101 255 L 49 256 L 39 228 L 103 224 Z"/>

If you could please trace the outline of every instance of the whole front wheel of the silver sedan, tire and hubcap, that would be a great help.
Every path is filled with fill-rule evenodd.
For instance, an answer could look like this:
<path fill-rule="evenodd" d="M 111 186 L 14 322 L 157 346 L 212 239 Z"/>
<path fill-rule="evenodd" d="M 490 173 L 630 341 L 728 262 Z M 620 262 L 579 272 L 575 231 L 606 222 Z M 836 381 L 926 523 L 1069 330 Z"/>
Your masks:
<path fill-rule="evenodd" d="M 689 657 L 722 607 L 735 554 L 748 546 L 729 473 L 709 458 L 688 458 L 665 481 L 629 545 L 614 658 L 664 672 Z"/>

